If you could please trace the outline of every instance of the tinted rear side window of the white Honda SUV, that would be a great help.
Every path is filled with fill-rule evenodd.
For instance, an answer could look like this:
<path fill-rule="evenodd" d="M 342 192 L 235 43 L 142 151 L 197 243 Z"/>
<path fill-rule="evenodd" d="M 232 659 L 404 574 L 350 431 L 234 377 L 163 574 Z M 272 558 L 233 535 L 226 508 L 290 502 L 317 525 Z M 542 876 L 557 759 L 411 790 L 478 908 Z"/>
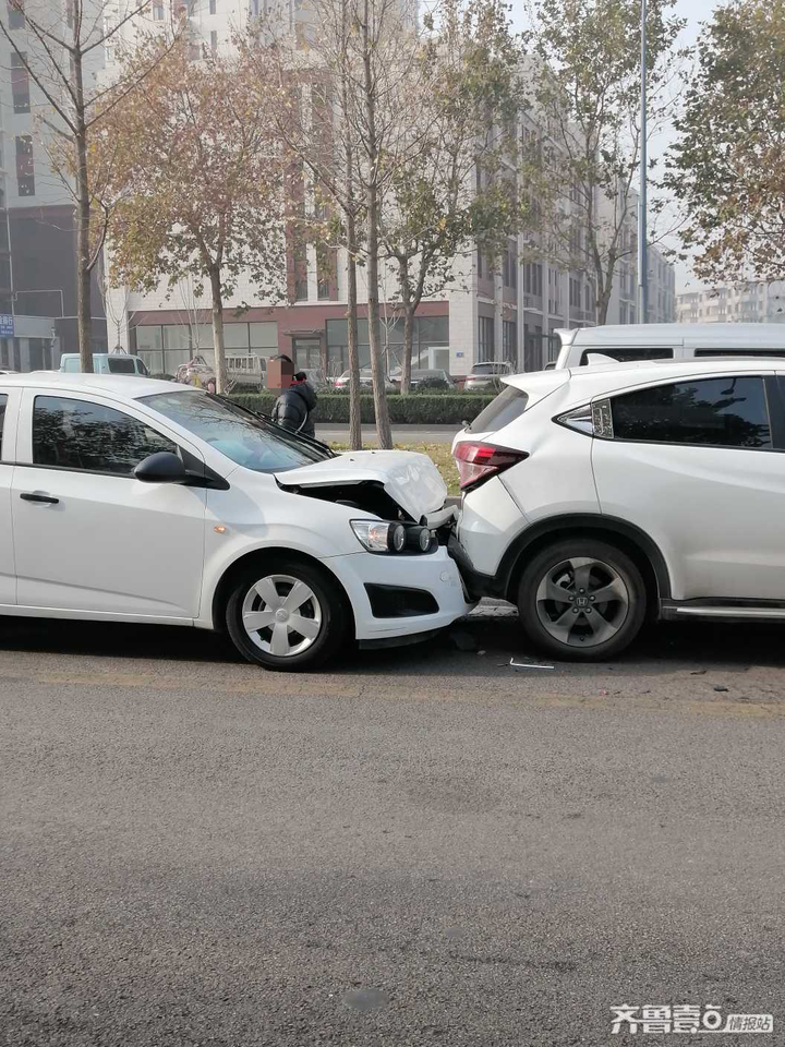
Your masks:
<path fill-rule="evenodd" d="M 661 444 L 771 448 L 763 378 L 723 375 L 637 389 L 611 399 L 613 435 Z"/>

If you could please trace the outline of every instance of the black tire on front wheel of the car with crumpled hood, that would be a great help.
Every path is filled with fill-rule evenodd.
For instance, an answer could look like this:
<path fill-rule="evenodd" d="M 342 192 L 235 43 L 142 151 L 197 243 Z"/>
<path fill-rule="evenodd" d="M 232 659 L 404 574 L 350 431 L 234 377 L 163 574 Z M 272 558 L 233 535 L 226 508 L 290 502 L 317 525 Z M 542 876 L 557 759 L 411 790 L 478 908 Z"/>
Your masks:
<path fill-rule="evenodd" d="M 256 631 L 257 642 L 243 625 L 243 612 L 246 599 L 254 599 L 251 590 L 264 579 L 276 576 L 288 576 L 306 586 L 316 598 L 321 612 L 318 634 L 310 646 L 299 652 L 277 655 L 269 650 L 263 650 L 258 641 L 269 646 L 271 643 L 271 628 L 265 627 Z M 275 582 L 279 592 L 286 591 L 288 582 Z M 292 587 L 293 588 L 293 587 Z M 291 591 L 291 590 L 289 590 Z M 267 604 L 258 598 L 264 613 Z M 306 610 L 314 612 L 313 605 Z M 247 606 L 245 606 L 247 611 Z M 251 610 L 249 613 L 253 613 Z M 316 565 L 304 563 L 297 558 L 259 561 L 255 566 L 247 567 L 235 579 L 234 587 L 227 603 L 226 623 L 232 642 L 249 662 L 255 662 L 265 669 L 282 673 L 309 672 L 324 665 L 343 647 L 347 639 L 347 624 L 351 621 L 351 611 L 347 606 L 347 598 L 338 582 L 327 570 Z M 290 627 L 289 639 L 297 643 L 295 629 Z M 305 639 L 305 638 L 303 638 Z"/>

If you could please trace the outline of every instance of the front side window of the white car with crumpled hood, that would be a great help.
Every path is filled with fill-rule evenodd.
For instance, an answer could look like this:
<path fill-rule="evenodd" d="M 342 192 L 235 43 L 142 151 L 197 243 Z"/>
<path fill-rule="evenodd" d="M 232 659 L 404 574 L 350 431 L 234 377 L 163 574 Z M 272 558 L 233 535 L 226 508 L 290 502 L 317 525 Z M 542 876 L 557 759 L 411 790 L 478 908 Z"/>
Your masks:
<path fill-rule="evenodd" d="M 129 477 L 148 455 L 178 453 L 144 422 L 102 404 L 37 396 L 33 408 L 33 462 Z"/>

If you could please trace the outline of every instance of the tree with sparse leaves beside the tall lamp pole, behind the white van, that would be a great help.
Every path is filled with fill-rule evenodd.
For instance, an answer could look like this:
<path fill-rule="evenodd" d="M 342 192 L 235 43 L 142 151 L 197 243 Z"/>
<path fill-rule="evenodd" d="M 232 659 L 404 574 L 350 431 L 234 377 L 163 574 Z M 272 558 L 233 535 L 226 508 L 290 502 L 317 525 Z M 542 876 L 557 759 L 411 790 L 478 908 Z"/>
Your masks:
<path fill-rule="evenodd" d="M 649 0 L 649 133 L 675 112 L 684 21 Z M 641 156 L 640 0 L 533 0 L 532 125 L 522 173 L 539 237 L 530 256 L 588 269 L 604 324 L 619 266 L 636 253 Z M 657 214 L 664 197 L 650 201 Z M 662 237 L 664 233 L 660 233 Z M 644 320 L 645 317 L 641 317 Z"/>

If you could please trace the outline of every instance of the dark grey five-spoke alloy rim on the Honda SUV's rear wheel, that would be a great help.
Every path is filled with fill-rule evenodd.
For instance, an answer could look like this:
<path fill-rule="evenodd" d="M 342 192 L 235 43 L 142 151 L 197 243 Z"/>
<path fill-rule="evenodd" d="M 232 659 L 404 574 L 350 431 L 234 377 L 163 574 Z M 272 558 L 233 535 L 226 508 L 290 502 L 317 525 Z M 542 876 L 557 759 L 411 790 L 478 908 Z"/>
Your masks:
<path fill-rule="evenodd" d="M 543 628 L 569 647 L 606 643 L 624 625 L 630 594 L 608 564 L 575 556 L 548 568 L 536 591 L 536 613 Z"/>

